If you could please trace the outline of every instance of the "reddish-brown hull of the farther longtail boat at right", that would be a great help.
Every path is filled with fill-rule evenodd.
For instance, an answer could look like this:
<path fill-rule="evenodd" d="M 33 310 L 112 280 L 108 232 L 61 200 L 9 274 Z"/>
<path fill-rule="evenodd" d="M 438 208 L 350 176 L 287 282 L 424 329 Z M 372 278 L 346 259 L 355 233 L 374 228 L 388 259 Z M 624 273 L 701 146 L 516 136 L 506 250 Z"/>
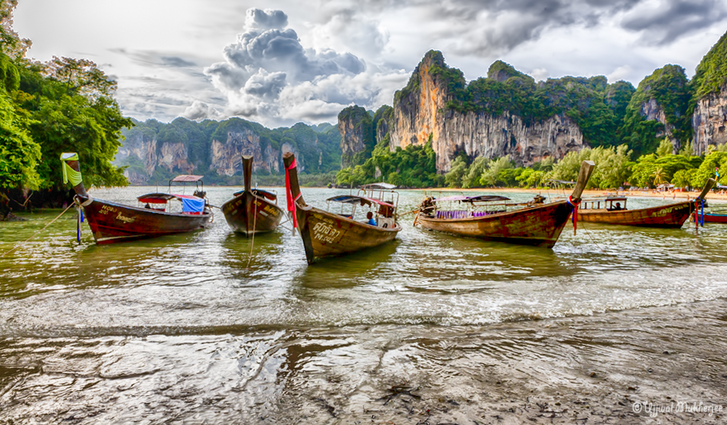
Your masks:
<path fill-rule="evenodd" d="M 578 211 L 578 219 L 589 223 L 678 229 L 686 222 L 691 211 L 694 211 L 694 202 L 678 202 L 651 208 L 620 211 L 582 209 Z"/>

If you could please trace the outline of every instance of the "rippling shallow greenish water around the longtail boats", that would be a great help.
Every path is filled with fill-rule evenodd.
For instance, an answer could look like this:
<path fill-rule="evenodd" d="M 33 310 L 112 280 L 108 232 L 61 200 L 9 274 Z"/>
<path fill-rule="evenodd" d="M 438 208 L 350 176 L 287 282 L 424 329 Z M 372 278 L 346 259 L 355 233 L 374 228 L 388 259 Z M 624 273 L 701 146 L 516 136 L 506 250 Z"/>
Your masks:
<path fill-rule="evenodd" d="M 219 206 L 235 190 L 208 188 L 208 198 Z M 153 191 L 92 195 L 134 204 Z M 302 193 L 324 206 L 348 190 Z M 422 195 L 403 191 L 399 211 Z M 0 255 L 59 213 L 0 223 Z M 393 243 L 308 267 L 298 235 L 253 242 L 217 210 L 206 230 L 109 246 L 95 246 L 86 224 L 77 243 L 71 210 L 0 257 L 0 424 L 417 424 L 425 417 L 406 409 L 441 399 L 447 421 L 486 423 L 477 408 L 498 379 L 486 376 L 502 380 L 508 364 L 518 371 L 508 391 L 580 391 L 588 378 L 574 370 L 595 362 L 635 376 L 634 362 L 654 360 L 644 352 L 662 353 L 662 343 L 688 351 L 691 332 L 704 333 L 689 355 L 714 380 L 705 392 L 726 395 L 716 384 L 727 376 L 724 346 L 707 340 L 727 317 L 727 226 L 579 223 L 573 235 L 569 224 L 547 250 L 430 232 L 412 219 Z"/>

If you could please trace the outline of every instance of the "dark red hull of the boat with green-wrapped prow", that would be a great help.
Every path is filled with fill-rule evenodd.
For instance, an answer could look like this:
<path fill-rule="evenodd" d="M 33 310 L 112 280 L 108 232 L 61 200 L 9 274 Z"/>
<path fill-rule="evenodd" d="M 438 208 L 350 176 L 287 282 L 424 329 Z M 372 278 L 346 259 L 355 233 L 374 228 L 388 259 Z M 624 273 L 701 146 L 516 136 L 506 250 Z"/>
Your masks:
<path fill-rule="evenodd" d="M 100 199 L 93 199 L 83 209 L 97 244 L 190 232 L 206 227 L 212 219 L 209 211 L 203 214 L 168 213 Z"/>

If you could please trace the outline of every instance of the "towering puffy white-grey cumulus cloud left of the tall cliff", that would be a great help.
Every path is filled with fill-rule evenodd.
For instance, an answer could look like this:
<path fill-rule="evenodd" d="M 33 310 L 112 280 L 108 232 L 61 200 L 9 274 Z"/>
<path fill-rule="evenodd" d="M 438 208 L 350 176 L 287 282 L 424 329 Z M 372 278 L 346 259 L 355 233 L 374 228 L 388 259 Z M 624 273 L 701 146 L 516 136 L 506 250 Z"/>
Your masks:
<path fill-rule="evenodd" d="M 404 70 L 369 66 L 349 52 L 306 48 L 287 25 L 288 17 L 280 10 L 249 9 L 245 32 L 222 49 L 223 61 L 204 69 L 227 98 L 222 115 L 268 126 L 336 121 L 348 105 L 376 108 L 390 103 L 393 92 L 409 78 Z M 220 114 L 196 102 L 185 116 L 206 118 L 205 110 Z"/>

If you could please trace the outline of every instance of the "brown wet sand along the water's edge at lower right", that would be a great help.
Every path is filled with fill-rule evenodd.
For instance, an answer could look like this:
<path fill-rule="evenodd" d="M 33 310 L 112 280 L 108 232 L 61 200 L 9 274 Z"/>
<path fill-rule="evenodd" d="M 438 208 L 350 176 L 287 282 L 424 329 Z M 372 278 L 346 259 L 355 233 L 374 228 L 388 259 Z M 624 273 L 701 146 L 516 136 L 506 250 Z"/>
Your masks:
<path fill-rule="evenodd" d="M 390 350 L 408 355 L 382 347 L 381 362 L 364 371 L 370 382 L 352 387 L 328 376 L 336 389 L 328 394 L 308 386 L 310 416 L 297 423 L 722 424 L 726 334 L 727 301 L 720 299 L 443 328 L 431 336 L 435 347 L 403 336 Z M 422 358 L 438 363 L 438 373 L 417 373 Z M 698 407 L 673 411 L 678 402 Z M 670 405 L 671 412 L 656 411 Z"/>

